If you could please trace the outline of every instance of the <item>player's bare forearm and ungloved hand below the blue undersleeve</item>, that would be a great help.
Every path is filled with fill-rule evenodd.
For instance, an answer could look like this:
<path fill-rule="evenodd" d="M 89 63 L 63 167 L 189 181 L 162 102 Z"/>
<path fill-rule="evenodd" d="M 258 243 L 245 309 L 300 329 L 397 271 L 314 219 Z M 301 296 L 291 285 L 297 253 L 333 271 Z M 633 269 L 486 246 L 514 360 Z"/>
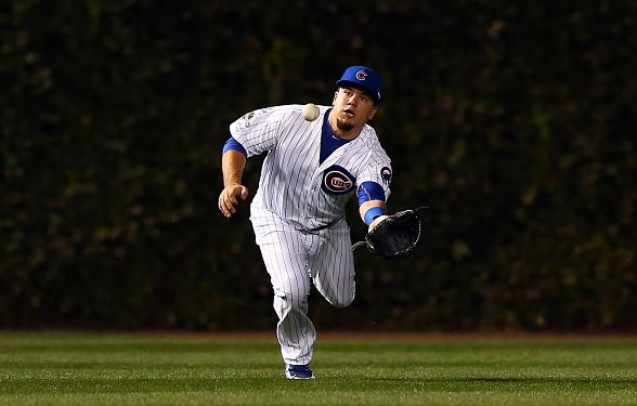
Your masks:
<path fill-rule="evenodd" d="M 246 156 L 235 149 L 230 149 L 221 158 L 223 172 L 223 191 L 219 195 L 219 210 L 226 218 L 236 213 L 238 198 L 245 200 L 249 196 L 248 188 L 242 185 L 242 176 L 246 166 Z"/>

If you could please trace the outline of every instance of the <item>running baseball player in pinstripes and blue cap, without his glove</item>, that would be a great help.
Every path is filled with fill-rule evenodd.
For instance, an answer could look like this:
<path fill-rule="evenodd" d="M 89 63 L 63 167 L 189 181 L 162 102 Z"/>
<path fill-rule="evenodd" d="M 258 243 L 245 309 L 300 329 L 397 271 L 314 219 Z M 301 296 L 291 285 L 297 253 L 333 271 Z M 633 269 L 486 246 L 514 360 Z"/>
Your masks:
<path fill-rule="evenodd" d="M 369 230 L 387 218 L 390 159 L 367 125 L 378 110 L 380 76 L 351 66 L 336 84 L 332 106 L 317 106 L 316 119 L 304 119 L 302 105 L 257 109 L 230 125 L 223 147 L 219 209 L 226 218 L 249 196 L 242 184 L 246 159 L 268 154 L 250 221 L 274 290 L 276 336 L 289 379 L 313 378 L 311 284 L 334 306 L 354 300 L 347 200 L 356 194 Z"/>

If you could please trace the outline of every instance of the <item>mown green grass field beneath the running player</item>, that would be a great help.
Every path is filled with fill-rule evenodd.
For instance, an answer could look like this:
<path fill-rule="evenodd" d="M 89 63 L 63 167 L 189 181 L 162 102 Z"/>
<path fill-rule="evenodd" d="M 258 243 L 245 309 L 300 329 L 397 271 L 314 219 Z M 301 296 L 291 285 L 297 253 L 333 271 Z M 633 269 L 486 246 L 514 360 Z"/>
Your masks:
<path fill-rule="evenodd" d="M 637 405 L 637 339 L 336 339 L 316 379 L 272 339 L 0 332 L 0 405 Z"/>

